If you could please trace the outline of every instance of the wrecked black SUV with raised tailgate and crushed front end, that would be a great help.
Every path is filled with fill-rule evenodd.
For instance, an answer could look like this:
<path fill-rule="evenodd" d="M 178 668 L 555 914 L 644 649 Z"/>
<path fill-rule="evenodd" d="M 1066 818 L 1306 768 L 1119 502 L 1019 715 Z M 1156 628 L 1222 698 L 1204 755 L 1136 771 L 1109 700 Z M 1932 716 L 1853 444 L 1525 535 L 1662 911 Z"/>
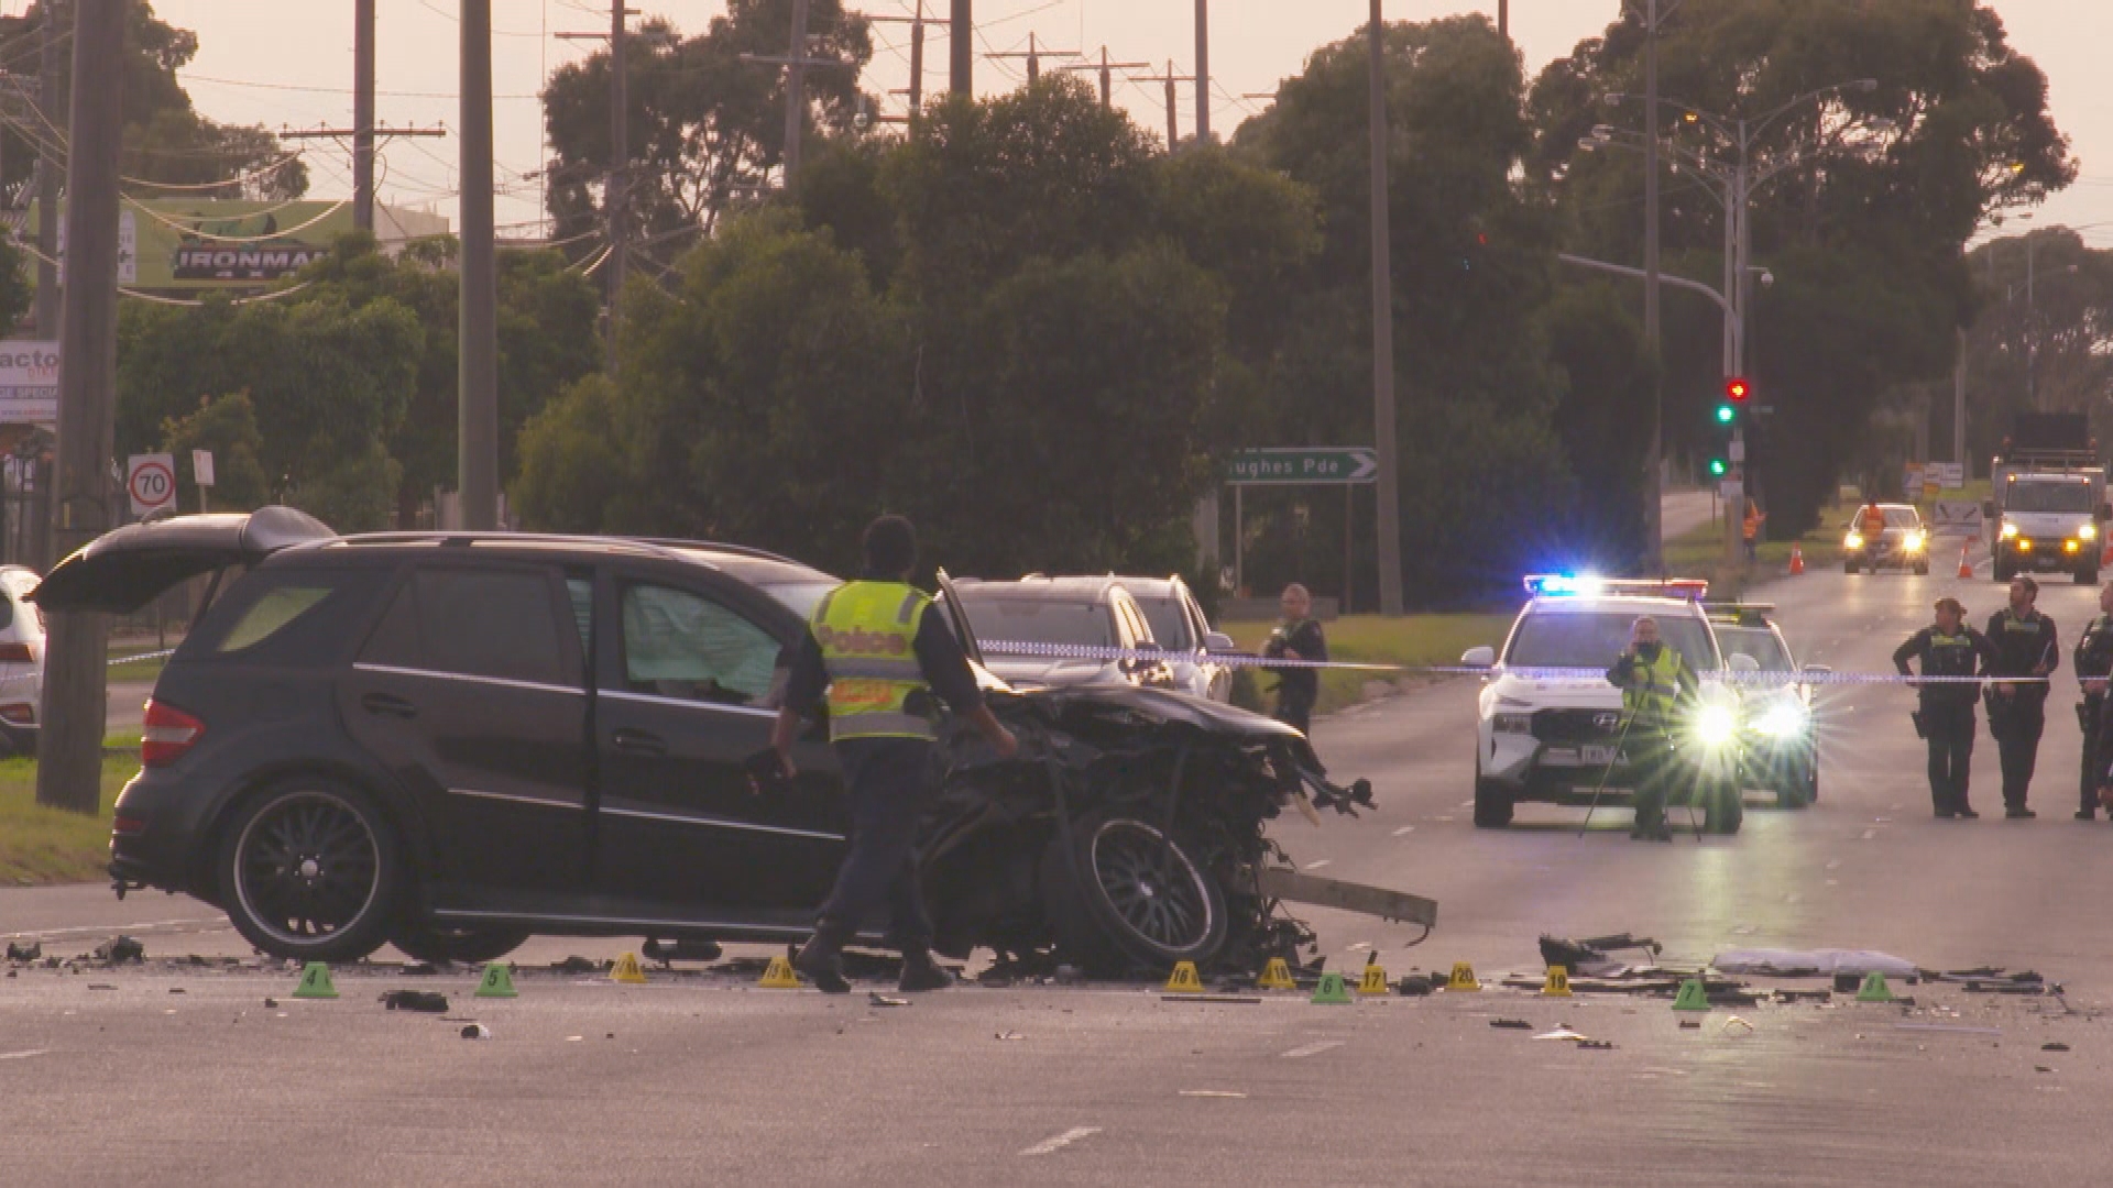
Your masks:
<path fill-rule="evenodd" d="M 782 653 L 837 579 L 731 545 L 336 537 L 266 507 L 118 528 L 36 600 L 123 613 L 207 573 L 218 598 L 161 674 L 118 797 L 120 894 L 194 894 L 294 960 L 809 930 L 845 833 L 824 729 L 799 742 L 799 780 L 748 774 Z M 1264 822 L 1293 797 L 1369 801 L 1257 714 L 983 679 L 1027 746 L 945 746 L 921 858 L 942 953 L 1249 960 L 1287 928 L 1255 888 Z"/>

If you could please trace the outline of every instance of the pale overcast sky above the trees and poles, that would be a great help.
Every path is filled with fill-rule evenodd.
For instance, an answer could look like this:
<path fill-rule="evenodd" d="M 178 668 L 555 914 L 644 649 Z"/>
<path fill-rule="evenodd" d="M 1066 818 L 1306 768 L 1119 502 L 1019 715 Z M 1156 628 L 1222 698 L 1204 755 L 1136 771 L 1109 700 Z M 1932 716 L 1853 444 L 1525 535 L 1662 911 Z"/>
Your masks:
<path fill-rule="evenodd" d="M 682 32 L 702 30 L 723 0 L 630 0 L 649 15 L 666 15 Z M 915 0 L 866 0 L 862 11 L 909 13 Z M 925 0 L 940 15 L 947 0 Z M 21 0 L 0 2 L 19 11 Z M 456 125 L 456 21 L 454 0 L 378 0 L 380 55 L 376 66 L 378 120 L 385 125 Z M 1447 0 L 1388 0 L 1388 19 L 1431 19 L 1473 11 L 1475 4 Z M 167 21 L 197 30 L 199 57 L 184 72 L 199 110 L 226 123 L 279 127 L 344 127 L 351 123 L 353 4 L 351 0 L 154 0 Z M 501 235 L 532 235 L 541 216 L 541 194 L 532 173 L 541 159 L 541 108 L 535 99 L 541 78 L 566 61 L 585 57 L 598 42 L 558 40 L 558 32 L 606 30 L 609 6 L 590 0 L 494 0 L 492 44 L 494 118 L 499 159 Z M 1485 11 L 1494 19 L 1494 0 Z M 2105 55 L 2113 47 L 2113 2 L 2109 0 L 1995 0 L 2012 32 L 2012 42 L 2039 61 L 2054 89 L 2056 123 L 2075 142 L 2083 178 L 2058 194 L 2037 216 L 2039 226 L 2062 222 L 2083 226 L 2100 247 L 2113 247 L 2113 80 Z M 294 19 L 294 11 L 300 19 Z M 1528 70 L 1570 51 L 1593 36 L 1619 11 L 1616 0 L 1513 0 L 1513 36 L 1526 53 Z M 1213 0 L 1211 70 L 1215 101 L 1213 131 L 1226 135 L 1259 104 L 1242 99 L 1266 93 L 1295 74 L 1316 47 L 1352 34 L 1365 19 L 1363 0 Z M 1018 51 L 1027 36 L 1059 51 L 1097 55 L 1107 44 L 1118 61 L 1175 61 L 1190 72 L 1196 57 L 1194 4 L 1188 0 L 976 0 L 978 36 L 985 51 Z M 925 89 L 947 82 L 947 30 L 932 27 L 925 47 Z M 875 25 L 875 59 L 868 91 L 909 85 L 909 30 Z M 1046 59 L 1052 68 L 1056 59 Z M 1016 87 L 1025 63 L 978 61 L 978 91 Z M 1164 129 L 1164 91 L 1152 82 L 1118 82 L 1116 97 L 1145 127 Z M 1181 89 L 1181 133 L 1194 131 L 1194 87 Z M 328 142 L 311 142 L 311 192 L 347 197 L 351 165 Z M 454 216 L 456 142 L 397 140 L 382 148 L 382 199 L 410 207 L 433 207 Z"/>

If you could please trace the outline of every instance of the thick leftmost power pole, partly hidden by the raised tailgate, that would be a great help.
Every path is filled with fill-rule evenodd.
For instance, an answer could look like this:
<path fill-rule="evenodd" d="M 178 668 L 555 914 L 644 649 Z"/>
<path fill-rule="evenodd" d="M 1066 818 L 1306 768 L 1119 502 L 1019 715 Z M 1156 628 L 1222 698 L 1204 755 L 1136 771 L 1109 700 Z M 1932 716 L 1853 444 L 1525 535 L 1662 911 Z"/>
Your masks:
<path fill-rule="evenodd" d="M 66 319 L 59 338 L 59 471 L 51 535 L 61 556 L 110 528 L 118 366 L 118 148 L 125 0 L 74 4 L 74 95 L 66 163 Z M 36 803 L 101 808 L 104 651 L 110 621 L 51 615 L 44 651 Z"/>

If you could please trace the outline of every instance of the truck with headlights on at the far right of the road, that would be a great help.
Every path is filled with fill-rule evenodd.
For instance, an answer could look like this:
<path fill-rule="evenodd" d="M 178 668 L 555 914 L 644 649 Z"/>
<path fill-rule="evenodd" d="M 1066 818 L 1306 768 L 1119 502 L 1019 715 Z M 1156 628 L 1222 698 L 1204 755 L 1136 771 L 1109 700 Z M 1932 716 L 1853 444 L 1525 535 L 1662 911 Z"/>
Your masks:
<path fill-rule="evenodd" d="M 2071 573 L 2079 586 L 2098 581 L 2113 507 L 2090 416 L 2020 412 L 1988 478 L 1982 522 L 1997 581 L 2018 573 Z"/>

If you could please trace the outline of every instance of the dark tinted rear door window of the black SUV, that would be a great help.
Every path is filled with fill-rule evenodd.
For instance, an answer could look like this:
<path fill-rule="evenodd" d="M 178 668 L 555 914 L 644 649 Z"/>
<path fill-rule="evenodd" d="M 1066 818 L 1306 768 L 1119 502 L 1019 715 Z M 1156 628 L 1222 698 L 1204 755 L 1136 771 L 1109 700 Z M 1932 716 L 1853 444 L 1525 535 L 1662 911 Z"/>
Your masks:
<path fill-rule="evenodd" d="M 368 638 L 359 660 L 391 668 L 571 685 L 549 579 L 516 569 L 420 569 Z"/>

